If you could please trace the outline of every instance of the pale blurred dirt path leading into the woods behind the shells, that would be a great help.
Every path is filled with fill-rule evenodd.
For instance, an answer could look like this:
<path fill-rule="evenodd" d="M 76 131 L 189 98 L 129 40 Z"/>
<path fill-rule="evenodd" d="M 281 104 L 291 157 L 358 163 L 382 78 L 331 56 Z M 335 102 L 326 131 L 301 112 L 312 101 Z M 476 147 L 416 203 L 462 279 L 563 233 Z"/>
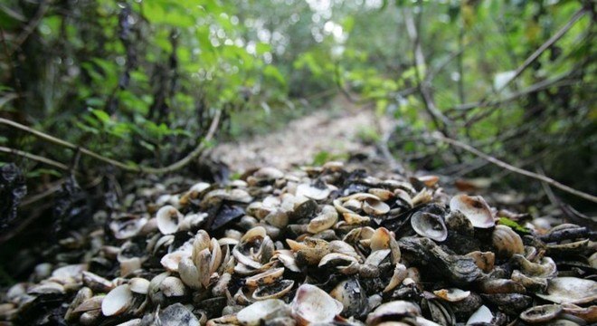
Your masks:
<path fill-rule="evenodd" d="M 356 108 L 343 98 L 336 98 L 334 104 L 343 110 L 317 110 L 277 132 L 220 144 L 212 156 L 232 171 L 304 166 L 312 164 L 317 155 L 335 160 L 346 160 L 355 154 L 372 161 L 382 159 L 374 144 L 364 139 L 367 134 L 383 135 L 390 124 L 376 120 L 374 110 Z"/>

